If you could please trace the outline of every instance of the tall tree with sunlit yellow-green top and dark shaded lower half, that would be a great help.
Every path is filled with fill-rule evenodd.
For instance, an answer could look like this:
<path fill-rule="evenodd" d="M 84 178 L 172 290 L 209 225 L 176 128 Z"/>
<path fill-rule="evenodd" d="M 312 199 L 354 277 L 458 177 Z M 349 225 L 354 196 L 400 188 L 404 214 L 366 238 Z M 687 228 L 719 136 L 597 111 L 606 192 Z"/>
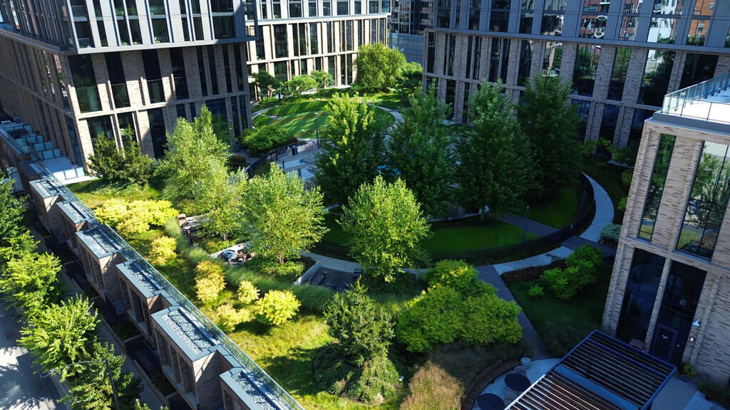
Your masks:
<path fill-rule="evenodd" d="M 315 175 L 329 204 L 345 204 L 360 185 L 378 174 L 385 127 L 359 96 L 335 94 L 326 111 L 329 117 L 320 129 L 323 152 L 315 159 Z"/>

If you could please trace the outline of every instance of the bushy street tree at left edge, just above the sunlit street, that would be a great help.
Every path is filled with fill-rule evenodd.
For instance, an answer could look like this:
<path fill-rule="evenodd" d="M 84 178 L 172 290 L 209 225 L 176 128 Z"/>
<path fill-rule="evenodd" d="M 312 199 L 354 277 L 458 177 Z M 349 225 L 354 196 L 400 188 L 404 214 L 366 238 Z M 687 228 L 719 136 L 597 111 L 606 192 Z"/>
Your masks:
<path fill-rule="evenodd" d="M 61 261 L 50 253 L 30 252 L 9 260 L 0 276 L 0 292 L 13 306 L 22 307 L 28 316 L 60 297 L 58 276 Z"/>

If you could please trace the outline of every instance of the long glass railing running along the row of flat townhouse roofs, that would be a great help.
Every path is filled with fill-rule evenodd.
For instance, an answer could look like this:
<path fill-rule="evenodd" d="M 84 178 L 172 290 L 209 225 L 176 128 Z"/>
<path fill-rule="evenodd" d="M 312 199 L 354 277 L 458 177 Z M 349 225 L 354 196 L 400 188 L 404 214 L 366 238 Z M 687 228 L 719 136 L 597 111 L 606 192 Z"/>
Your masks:
<path fill-rule="evenodd" d="M 96 225 L 98 225 L 104 233 L 106 233 L 108 236 L 110 236 L 110 239 L 112 241 L 115 241 L 115 243 L 119 244 L 120 247 L 122 247 L 124 255 L 128 260 L 134 260 L 134 262 L 138 263 L 139 266 L 142 266 L 142 268 L 145 268 L 147 272 L 152 274 L 152 276 L 160 283 L 160 285 L 163 287 L 163 290 L 165 290 L 169 295 L 180 304 L 185 310 L 188 311 L 193 316 L 193 319 L 197 321 L 198 325 L 204 329 L 207 333 L 210 334 L 212 337 L 212 340 L 218 341 L 223 348 L 228 350 L 231 355 L 236 357 L 236 359 L 241 363 L 242 367 L 247 368 L 247 370 L 250 371 L 250 373 L 255 374 L 255 376 L 258 376 L 259 379 L 261 379 L 262 384 L 266 387 L 266 390 L 269 390 L 269 392 L 264 391 L 261 389 L 260 385 L 255 385 L 256 388 L 259 390 L 262 390 L 264 394 L 271 393 L 269 395 L 269 400 L 274 401 L 274 405 L 280 406 L 282 409 L 288 409 L 288 410 L 304 410 L 304 408 L 299 405 L 299 403 L 294 400 L 291 395 L 283 389 L 274 379 L 272 379 L 269 374 L 264 371 L 258 364 L 253 361 L 248 355 L 236 344 L 234 341 L 232 341 L 228 336 L 226 336 L 226 333 L 223 333 L 222 330 L 218 329 L 218 326 L 216 326 L 208 317 L 198 309 L 193 302 L 191 302 L 188 298 L 183 295 L 183 293 L 180 293 L 180 290 L 177 290 L 177 287 L 174 287 L 172 283 L 170 283 L 165 276 L 163 276 L 157 269 L 155 269 L 154 266 L 152 266 L 147 260 L 142 257 L 142 255 L 139 255 L 139 252 L 135 250 L 133 247 L 131 247 L 130 244 L 127 243 L 119 234 L 114 231 L 109 225 L 100 223 L 99 220 L 96 219 L 96 214 L 86 206 L 84 201 L 81 201 L 79 197 L 77 197 L 71 190 L 69 190 L 66 185 L 58 181 L 53 176 L 53 173 L 51 173 L 48 169 L 45 168 L 45 166 L 42 166 L 43 173 L 45 174 L 45 177 L 49 179 L 55 186 L 58 187 L 58 190 L 61 191 L 61 195 L 66 198 L 67 201 L 72 201 L 78 206 L 80 206 L 81 209 L 86 212 L 90 219 L 93 220 Z M 268 395 L 268 394 L 267 394 Z M 274 397 L 271 397 L 271 396 Z"/>

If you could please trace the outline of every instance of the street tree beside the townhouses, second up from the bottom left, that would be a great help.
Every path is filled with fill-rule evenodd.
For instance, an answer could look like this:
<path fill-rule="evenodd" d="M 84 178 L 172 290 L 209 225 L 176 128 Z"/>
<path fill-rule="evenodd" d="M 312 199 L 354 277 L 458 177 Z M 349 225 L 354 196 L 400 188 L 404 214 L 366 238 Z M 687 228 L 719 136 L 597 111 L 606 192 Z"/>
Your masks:
<path fill-rule="evenodd" d="M 40 309 L 20 334 L 20 344 L 35 357 L 35 363 L 43 371 L 52 371 L 92 355 L 99 318 L 88 298 L 76 296 Z"/>

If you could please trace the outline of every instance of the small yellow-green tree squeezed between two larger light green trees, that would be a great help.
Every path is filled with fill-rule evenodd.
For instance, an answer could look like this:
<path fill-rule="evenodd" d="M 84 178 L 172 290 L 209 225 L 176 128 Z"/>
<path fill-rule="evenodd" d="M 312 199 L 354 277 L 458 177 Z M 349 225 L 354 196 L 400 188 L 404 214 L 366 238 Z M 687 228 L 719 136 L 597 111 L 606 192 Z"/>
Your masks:
<path fill-rule="evenodd" d="M 229 173 L 219 166 L 208 173 L 196 187 L 201 193 L 198 209 L 206 216 L 204 228 L 227 241 L 229 235 L 240 231 L 239 208 L 246 193 L 247 174 L 240 170 Z"/>

